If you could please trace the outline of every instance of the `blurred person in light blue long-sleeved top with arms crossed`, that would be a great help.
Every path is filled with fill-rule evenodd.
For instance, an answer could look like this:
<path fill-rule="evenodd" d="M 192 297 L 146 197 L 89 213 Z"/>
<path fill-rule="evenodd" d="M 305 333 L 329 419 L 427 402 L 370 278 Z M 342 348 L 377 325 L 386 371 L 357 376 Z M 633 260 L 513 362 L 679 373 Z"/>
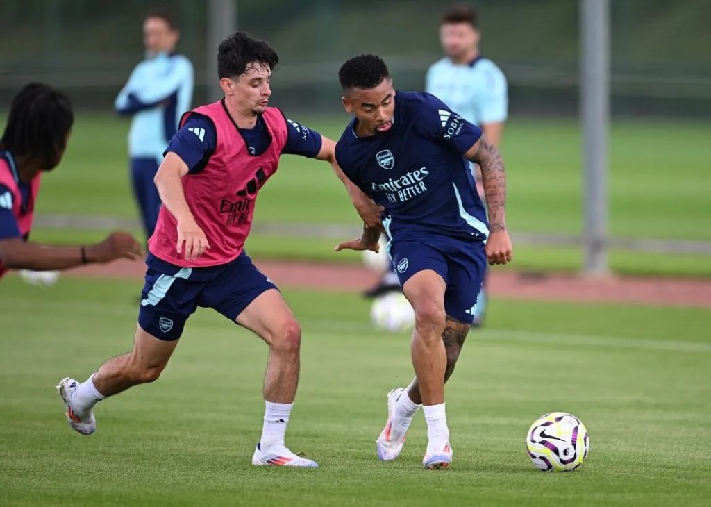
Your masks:
<path fill-rule="evenodd" d="M 178 121 L 190 110 L 193 65 L 175 53 L 180 33 L 168 11 L 149 12 L 143 22 L 146 58 L 131 73 L 114 102 L 119 114 L 132 117 L 129 156 L 132 183 L 146 238 L 153 234 L 161 207 L 153 183 L 163 152 L 177 132 Z"/>

